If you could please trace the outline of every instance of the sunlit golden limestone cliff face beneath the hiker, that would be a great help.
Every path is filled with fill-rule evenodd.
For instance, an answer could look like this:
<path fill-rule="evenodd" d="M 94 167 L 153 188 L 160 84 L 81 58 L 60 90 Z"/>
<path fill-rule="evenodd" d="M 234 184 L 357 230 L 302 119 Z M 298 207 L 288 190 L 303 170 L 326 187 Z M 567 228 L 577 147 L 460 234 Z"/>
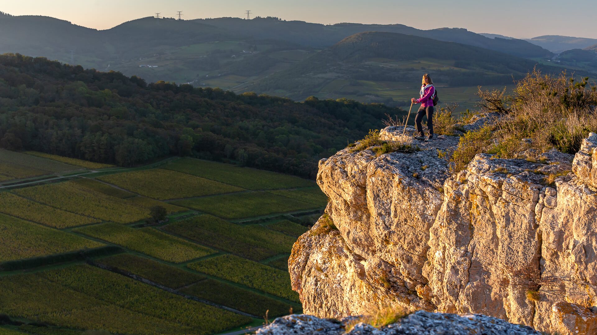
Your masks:
<path fill-rule="evenodd" d="M 412 141 L 396 127 L 381 137 Z M 453 176 L 441 157 L 458 138 L 416 142 L 414 153 L 345 149 L 319 162 L 329 219 L 289 261 L 304 312 L 402 306 L 597 334 L 597 134 L 576 157 L 479 154 Z M 337 229 L 321 229 L 330 219 Z"/>

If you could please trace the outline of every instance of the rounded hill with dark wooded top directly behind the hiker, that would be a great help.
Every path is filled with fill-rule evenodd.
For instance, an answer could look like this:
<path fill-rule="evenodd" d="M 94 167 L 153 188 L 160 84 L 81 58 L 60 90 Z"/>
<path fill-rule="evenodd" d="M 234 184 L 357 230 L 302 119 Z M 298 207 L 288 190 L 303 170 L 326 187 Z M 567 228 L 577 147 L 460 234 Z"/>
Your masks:
<path fill-rule="evenodd" d="M 421 75 L 429 72 L 443 88 L 444 102 L 469 108 L 475 97 L 467 89 L 476 92 L 478 85 L 512 84 L 512 77 L 521 77 L 535 65 L 535 61 L 476 46 L 366 32 L 349 36 L 246 89 L 294 99 L 329 97 L 330 93 L 351 98 L 373 95 L 408 105 L 418 92 Z"/>

